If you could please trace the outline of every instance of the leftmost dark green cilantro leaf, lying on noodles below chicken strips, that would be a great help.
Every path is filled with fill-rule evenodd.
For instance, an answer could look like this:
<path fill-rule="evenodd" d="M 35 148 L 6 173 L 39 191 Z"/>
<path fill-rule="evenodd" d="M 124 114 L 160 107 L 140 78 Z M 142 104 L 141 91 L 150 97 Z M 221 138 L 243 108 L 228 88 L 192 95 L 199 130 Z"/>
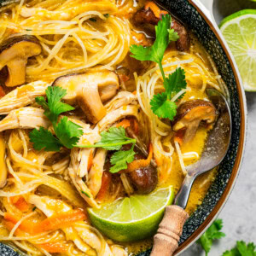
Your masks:
<path fill-rule="evenodd" d="M 34 129 L 30 132 L 29 138 L 36 150 L 44 148 L 45 151 L 60 151 L 60 148 L 62 147 L 61 142 L 54 137 L 50 131 L 46 130 L 42 126 L 39 130 Z"/>

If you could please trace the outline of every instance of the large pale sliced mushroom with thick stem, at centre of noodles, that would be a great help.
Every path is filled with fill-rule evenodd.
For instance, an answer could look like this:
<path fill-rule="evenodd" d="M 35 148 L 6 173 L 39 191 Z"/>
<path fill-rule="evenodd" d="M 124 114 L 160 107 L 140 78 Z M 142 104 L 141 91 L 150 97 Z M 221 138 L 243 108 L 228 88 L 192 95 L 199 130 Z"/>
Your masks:
<path fill-rule="evenodd" d="M 116 95 L 119 89 L 118 75 L 107 69 L 94 69 L 86 73 L 60 77 L 53 83 L 67 90 L 64 100 L 70 104 L 77 102 L 87 119 L 96 124 L 107 113 L 102 102 Z"/>

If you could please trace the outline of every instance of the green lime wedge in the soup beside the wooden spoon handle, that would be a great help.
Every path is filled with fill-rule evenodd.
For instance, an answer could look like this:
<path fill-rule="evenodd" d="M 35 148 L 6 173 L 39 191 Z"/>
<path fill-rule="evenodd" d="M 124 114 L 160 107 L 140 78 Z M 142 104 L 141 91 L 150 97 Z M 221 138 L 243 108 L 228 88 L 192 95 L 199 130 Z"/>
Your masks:
<path fill-rule="evenodd" d="M 149 195 L 131 195 L 100 209 L 89 208 L 91 223 L 114 241 L 137 241 L 156 232 L 165 207 L 173 201 L 172 187 Z"/>

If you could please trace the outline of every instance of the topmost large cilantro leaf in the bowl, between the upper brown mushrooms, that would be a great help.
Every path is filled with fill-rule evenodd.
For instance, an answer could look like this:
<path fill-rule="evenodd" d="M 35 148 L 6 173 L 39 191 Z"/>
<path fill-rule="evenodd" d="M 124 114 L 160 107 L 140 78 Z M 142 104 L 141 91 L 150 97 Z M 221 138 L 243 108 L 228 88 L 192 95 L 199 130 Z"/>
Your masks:
<path fill-rule="evenodd" d="M 155 41 L 152 46 L 143 47 L 142 45 L 131 45 L 131 57 L 137 59 L 138 61 L 154 61 L 159 65 L 163 60 L 166 48 L 170 43 L 170 32 L 168 31 L 172 24 L 171 15 L 162 16 L 155 26 Z"/>

